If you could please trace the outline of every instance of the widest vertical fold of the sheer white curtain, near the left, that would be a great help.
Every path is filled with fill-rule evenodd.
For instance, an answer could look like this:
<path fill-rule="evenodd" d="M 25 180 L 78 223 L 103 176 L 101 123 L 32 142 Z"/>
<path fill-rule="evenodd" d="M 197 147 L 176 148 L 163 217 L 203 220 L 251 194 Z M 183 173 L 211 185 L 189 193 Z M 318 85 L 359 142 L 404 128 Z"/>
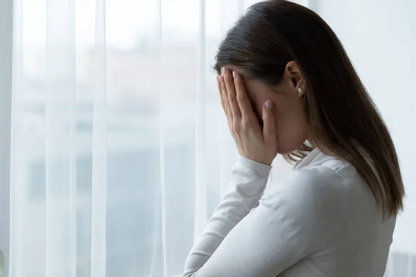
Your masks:
<path fill-rule="evenodd" d="M 76 276 L 75 10 L 46 1 L 46 277 Z M 28 272 L 28 274 L 30 274 Z"/>

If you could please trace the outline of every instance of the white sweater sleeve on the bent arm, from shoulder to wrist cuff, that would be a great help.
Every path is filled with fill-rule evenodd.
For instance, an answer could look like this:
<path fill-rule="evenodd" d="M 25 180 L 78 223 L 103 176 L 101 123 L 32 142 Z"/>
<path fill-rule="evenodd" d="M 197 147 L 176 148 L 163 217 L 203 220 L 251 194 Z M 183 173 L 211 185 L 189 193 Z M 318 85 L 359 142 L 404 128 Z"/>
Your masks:
<path fill-rule="evenodd" d="M 232 188 L 189 254 L 185 277 L 275 277 L 302 258 L 342 243 L 349 192 L 335 171 L 292 170 L 255 208 L 266 174 L 241 165 L 233 174 Z"/>

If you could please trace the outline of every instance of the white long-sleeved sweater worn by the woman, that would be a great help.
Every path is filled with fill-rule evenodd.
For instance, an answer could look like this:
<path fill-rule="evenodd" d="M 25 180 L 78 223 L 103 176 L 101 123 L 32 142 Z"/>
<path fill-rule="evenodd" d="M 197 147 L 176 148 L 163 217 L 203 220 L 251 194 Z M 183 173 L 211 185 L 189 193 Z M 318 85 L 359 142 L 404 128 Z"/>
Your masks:
<path fill-rule="evenodd" d="M 396 219 L 351 164 L 315 149 L 263 195 L 270 169 L 239 158 L 184 276 L 383 276 Z"/>

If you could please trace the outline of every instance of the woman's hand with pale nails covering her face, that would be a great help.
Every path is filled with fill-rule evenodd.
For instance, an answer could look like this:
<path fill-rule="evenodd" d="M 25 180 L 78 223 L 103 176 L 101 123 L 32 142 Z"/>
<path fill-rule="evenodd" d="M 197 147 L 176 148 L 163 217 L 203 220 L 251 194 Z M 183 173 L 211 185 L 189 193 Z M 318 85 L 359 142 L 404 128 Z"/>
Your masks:
<path fill-rule="evenodd" d="M 275 105 L 272 100 L 263 105 L 261 129 L 245 91 L 243 77 L 223 68 L 221 75 L 217 76 L 217 83 L 221 105 L 239 154 L 270 166 L 277 155 Z"/>

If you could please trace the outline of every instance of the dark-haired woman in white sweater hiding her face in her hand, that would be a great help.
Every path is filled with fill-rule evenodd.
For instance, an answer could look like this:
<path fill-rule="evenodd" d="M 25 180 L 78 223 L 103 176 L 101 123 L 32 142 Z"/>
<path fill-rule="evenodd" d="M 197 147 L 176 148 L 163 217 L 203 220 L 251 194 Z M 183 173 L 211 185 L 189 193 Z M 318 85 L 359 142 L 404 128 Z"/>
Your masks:
<path fill-rule="evenodd" d="M 331 28 L 295 3 L 264 1 L 216 58 L 241 157 L 184 276 L 383 276 L 403 206 L 399 162 Z M 300 161 L 263 194 L 277 154 Z"/>

